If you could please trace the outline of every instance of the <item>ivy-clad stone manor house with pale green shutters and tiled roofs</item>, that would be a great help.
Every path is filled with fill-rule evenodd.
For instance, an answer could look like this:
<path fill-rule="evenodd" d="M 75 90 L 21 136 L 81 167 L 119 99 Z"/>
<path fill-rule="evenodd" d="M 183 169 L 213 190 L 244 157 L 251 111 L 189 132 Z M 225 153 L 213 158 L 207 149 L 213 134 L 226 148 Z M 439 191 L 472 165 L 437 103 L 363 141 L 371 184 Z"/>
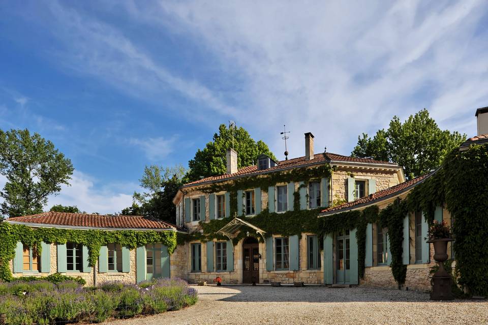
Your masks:
<path fill-rule="evenodd" d="M 470 144 L 488 142 L 488 108 L 478 109 L 478 136 Z M 387 161 L 353 158 L 330 152 L 314 152 L 314 136 L 305 134 L 304 156 L 273 161 L 260 155 L 255 166 L 237 169 L 238 152 L 227 151 L 227 173 L 204 178 L 182 186 L 173 203 L 176 225 L 141 216 L 101 216 L 47 212 L 6 220 L 32 228 L 99 229 L 106 231 L 169 231 L 185 236 L 202 232 L 202 224 L 223 219 L 219 238 L 209 241 L 190 240 L 177 245 L 172 254 L 162 244 L 147 244 L 129 249 L 117 243 L 102 246 L 95 267 L 89 267 L 87 247 L 76 244 L 42 243 L 36 256 L 31 247 L 18 243 L 10 267 L 14 277 L 47 275 L 60 272 L 81 276 L 87 284 L 106 280 L 129 283 L 158 277 L 180 277 L 189 282 L 211 283 L 219 276 L 223 283 L 318 283 L 396 287 L 389 264 L 389 238 L 385 229 L 368 224 L 365 260 L 358 261 L 355 232 L 326 234 L 302 233 L 300 236 L 269 236 L 253 224 L 253 217 L 266 211 L 280 214 L 287 211 L 317 210 L 318 218 L 370 205 L 380 209 L 429 178 L 432 173 L 405 181 L 403 168 Z M 270 175 L 306 171 L 320 166 L 333 168 L 331 176 L 292 182 L 277 182 L 262 190 L 259 180 Z M 242 180 L 256 180 L 248 188 L 220 190 Z M 209 191 L 209 188 L 219 189 Z M 235 202 L 232 202 L 235 200 Z M 299 201 L 296 201 L 299 200 Z M 299 202 L 299 204 L 296 204 Z M 236 211 L 231 215 L 232 207 Z M 451 223 L 448 211 L 439 206 L 435 218 Z M 228 222 L 227 222 L 228 221 Z M 252 230 L 252 234 L 249 231 Z M 405 287 L 430 288 L 430 267 L 434 265 L 433 247 L 426 242 L 428 224 L 422 211 L 404 219 L 403 263 L 407 265 Z M 257 237 L 256 237 L 257 234 Z M 239 236 L 240 235 L 240 236 Z M 237 237 L 238 236 L 238 237 Z M 234 245 L 232 239 L 240 238 Z M 452 258 L 454 254 L 450 252 Z M 359 279 L 358 263 L 364 263 L 364 277 Z"/>

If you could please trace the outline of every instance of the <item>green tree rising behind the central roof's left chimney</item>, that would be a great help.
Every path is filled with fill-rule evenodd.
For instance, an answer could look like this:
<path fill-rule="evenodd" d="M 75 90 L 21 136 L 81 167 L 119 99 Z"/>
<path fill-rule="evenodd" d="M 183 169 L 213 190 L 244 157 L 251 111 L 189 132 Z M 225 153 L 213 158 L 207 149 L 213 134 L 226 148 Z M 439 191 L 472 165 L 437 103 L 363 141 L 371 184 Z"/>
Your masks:
<path fill-rule="evenodd" d="M 185 183 L 225 174 L 227 171 L 226 152 L 232 146 L 237 151 L 238 168 L 256 164 L 256 158 L 261 153 L 276 160 L 267 144 L 261 140 L 255 141 L 243 127 L 234 129 L 233 139 L 232 145 L 232 129 L 221 124 L 219 133 L 214 134 L 214 139 L 208 142 L 203 150 L 198 149 L 195 157 L 189 161 L 190 170 L 185 176 Z"/>

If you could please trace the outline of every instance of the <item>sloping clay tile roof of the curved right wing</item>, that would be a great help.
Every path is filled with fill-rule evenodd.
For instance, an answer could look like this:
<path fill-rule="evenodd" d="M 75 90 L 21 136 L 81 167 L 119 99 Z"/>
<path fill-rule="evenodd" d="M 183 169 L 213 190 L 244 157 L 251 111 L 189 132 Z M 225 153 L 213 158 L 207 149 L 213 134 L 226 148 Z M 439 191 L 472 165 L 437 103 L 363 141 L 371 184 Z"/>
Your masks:
<path fill-rule="evenodd" d="M 404 192 L 405 190 L 409 189 L 410 187 L 412 187 L 412 186 L 418 184 L 419 182 L 423 181 L 424 179 L 428 178 L 432 174 L 434 174 L 434 172 L 416 177 L 414 179 L 408 180 L 406 182 L 400 183 L 400 184 L 395 185 L 395 186 L 391 186 L 387 189 L 383 189 L 381 191 L 373 193 L 367 197 L 364 197 L 364 198 L 361 198 L 358 200 L 354 200 L 352 202 L 348 202 L 345 204 L 341 204 L 341 205 L 338 205 L 336 207 L 327 208 L 325 210 L 322 210 L 320 215 L 340 213 L 340 212 L 351 210 L 351 209 L 358 207 L 358 206 L 367 206 L 369 204 L 373 204 L 373 203 L 375 203 L 375 201 L 377 201 L 379 199 L 384 199 L 386 197 L 390 197 L 390 196 L 393 196 L 395 194 L 400 194 L 400 193 Z"/>

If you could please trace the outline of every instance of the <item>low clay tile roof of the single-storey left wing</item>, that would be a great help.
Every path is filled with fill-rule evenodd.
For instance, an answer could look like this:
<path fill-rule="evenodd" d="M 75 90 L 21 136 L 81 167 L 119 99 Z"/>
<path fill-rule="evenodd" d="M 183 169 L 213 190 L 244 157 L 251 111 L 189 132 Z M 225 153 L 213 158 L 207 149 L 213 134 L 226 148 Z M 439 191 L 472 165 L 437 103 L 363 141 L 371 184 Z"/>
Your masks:
<path fill-rule="evenodd" d="M 74 226 L 83 228 L 114 228 L 114 229 L 147 229 L 147 230 L 176 230 L 176 226 L 169 222 L 143 216 L 98 215 L 86 213 L 45 212 L 41 214 L 13 217 L 7 222 L 39 223 L 53 226 Z"/>

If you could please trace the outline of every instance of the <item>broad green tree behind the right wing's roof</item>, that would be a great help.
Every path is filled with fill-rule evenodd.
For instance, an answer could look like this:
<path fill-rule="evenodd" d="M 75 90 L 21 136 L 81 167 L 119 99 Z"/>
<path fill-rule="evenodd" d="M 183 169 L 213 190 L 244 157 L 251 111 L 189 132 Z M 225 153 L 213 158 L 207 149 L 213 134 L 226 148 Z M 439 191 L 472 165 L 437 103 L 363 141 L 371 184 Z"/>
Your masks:
<path fill-rule="evenodd" d="M 412 179 L 439 167 L 447 153 L 466 140 L 466 135 L 441 130 L 423 109 L 404 123 L 394 116 L 388 129 L 378 130 L 373 139 L 364 133 L 357 138 L 352 156 L 393 161 L 403 166 L 407 179 Z"/>

